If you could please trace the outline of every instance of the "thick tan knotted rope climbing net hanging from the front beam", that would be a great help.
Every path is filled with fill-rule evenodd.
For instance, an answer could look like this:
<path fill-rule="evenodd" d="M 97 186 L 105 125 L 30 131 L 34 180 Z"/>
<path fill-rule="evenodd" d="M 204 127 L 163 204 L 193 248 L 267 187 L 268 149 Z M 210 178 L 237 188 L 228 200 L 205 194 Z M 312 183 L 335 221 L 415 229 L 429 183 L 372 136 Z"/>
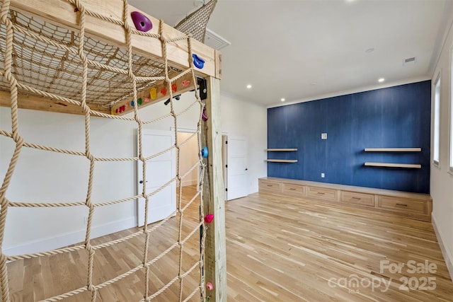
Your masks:
<path fill-rule="evenodd" d="M 123 16 L 121 19 L 113 18 L 112 16 L 104 16 L 94 11 L 89 11 L 84 6 L 83 0 L 67 0 L 70 4 L 74 5 L 74 8 L 79 18 L 79 28 L 77 33 L 70 32 L 69 30 L 65 32 L 65 29 L 62 29 L 62 33 L 67 33 L 67 36 L 70 36 L 70 41 L 62 39 L 59 41 L 58 38 L 50 37 L 48 35 L 44 35 L 40 33 L 40 30 L 36 30 L 35 28 L 29 28 L 28 25 L 30 23 L 35 22 L 36 24 L 40 24 L 43 28 L 50 25 L 44 21 L 39 21 L 37 18 L 25 16 L 23 13 L 18 13 L 16 11 L 12 11 L 10 8 L 10 1 L 3 0 L 1 3 L 1 10 L 0 10 L 0 21 L 1 27 L 5 29 L 2 33 L 0 30 L 0 48 L 4 47 L 4 62 L 3 66 L 4 69 L 0 70 L 0 90 L 7 89 L 11 95 L 11 132 L 0 129 L 0 135 L 11 139 L 14 144 L 15 148 L 13 154 L 11 156 L 11 160 L 8 165 L 8 169 L 6 170 L 6 174 L 4 180 L 0 187 L 0 286 L 1 286 L 1 295 L 2 300 L 4 302 L 10 302 L 11 296 L 9 293 L 9 286 L 8 286 L 8 269 L 7 269 L 7 262 L 8 261 L 16 261 L 16 260 L 23 260 L 23 259 L 32 259 L 36 257 L 47 257 L 50 255 L 57 255 L 62 253 L 70 253 L 75 252 L 78 250 L 85 249 L 88 254 L 87 260 L 87 274 L 86 274 L 86 285 L 82 286 L 79 289 L 74 289 L 72 291 L 68 291 L 66 293 L 59 294 L 58 296 L 53 296 L 50 298 L 45 299 L 44 301 L 60 301 L 64 298 L 68 298 L 70 296 L 74 296 L 77 294 L 81 294 L 84 292 L 91 293 L 91 301 L 97 301 L 98 298 L 98 291 L 103 289 L 105 286 L 110 286 L 117 281 L 125 279 L 126 277 L 130 276 L 131 274 L 135 274 L 142 270 L 144 272 L 145 278 L 143 280 L 144 284 L 144 292 L 143 292 L 143 299 L 142 301 L 150 301 L 153 298 L 156 298 L 160 294 L 164 293 L 168 287 L 172 284 L 175 284 L 179 281 L 179 301 L 188 301 L 192 298 L 198 291 L 200 291 L 200 296 L 202 300 L 205 299 L 205 289 L 204 289 L 204 259 L 203 255 L 205 252 L 205 226 L 203 224 L 203 204 L 202 204 L 202 184 L 203 184 L 203 175 L 205 167 L 202 164 L 201 154 L 199 153 L 198 161 L 190 168 L 190 170 L 182 173 L 180 170 L 180 162 L 181 162 L 181 147 L 185 146 L 191 139 L 197 139 L 197 144 L 199 150 L 202 148 L 201 146 L 201 121 L 202 121 L 202 109 L 203 104 L 200 100 L 200 94 L 198 93 L 197 89 L 195 89 L 195 101 L 188 105 L 187 108 L 183 109 L 180 112 L 176 112 L 175 104 L 173 103 L 173 91 L 171 89 L 172 83 L 180 79 L 180 77 L 185 76 L 186 74 L 192 75 L 193 83 L 197 83 L 197 79 L 195 77 L 195 67 L 193 64 L 193 57 L 192 57 L 192 48 L 190 43 L 190 35 L 180 35 L 179 37 L 172 37 L 171 39 L 166 37 L 166 33 L 164 31 L 164 23 L 160 21 L 159 23 L 159 32 L 158 33 L 143 33 L 141 31 L 136 30 L 133 28 L 130 23 L 128 22 L 128 18 L 130 16 L 130 7 L 127 3 L 127 0 L 123 0 Z M 99 18 L 103 21 L 108 21 L 115 25 L 120 25 L 124 28 L 125 31 L 125 40 L 126 44 L 124 45 L 124 50 L 120 50 L 120 48 L 109 47 L 108 45 L 104 45 L 101 42 L 94 42 L 91 40 L 90 37 L 86 35 L 86 18 L 87 16 Z M 54 26 L 54 25 L 52 25 Z M 47 28 L 47 32 L 51 31 L 50 28 Z M 152 62 L 151 59 L 142 60 L 137 58 L 137 55 L 133 54 L 132 52 L 132 36 L 133 35 L 142 35 L 144 37 L 149 37 L 149 39 L 158 39 L 161 42 L 162 48 L 162 59 L 163 62 L 156 63 Z M 3 40 L 4 37 L 4 41 Z M 22 72 L 26 70 L 24 66 L 19 66 L 21 60 L 15 57 L 16 47 L 18 49 L 22 49 L 21 47 L 28 47 L 24 41 L 27 37 L 28 39 L 35 40 L 40 45 L 47 45 L 48 49 L 55 50 L 55 53 L 61 54 L 60 56 L 57 54 L 45 54 L 42 50 L 36 50 L 37 52 L 42 52 L 43 56 L 46 55 L 51 59 L 55 59 L 58 62 L 59 69 L 52 71 L 50 70 L 50 74 L 47 77 L 51 78 L 50 86 L 54 88 L 50 88 L 49 91 L 43 89 L 45 85 L 39 85 L 36 83 L 31 83 L 26 81 L 26 79 L 18 79 L 18 70 L 21 70 L 20 74 L 25 74 Z M 186 41 L 188 48 L 188 63 L 189 68 L 185 70 L 180 70 L 175 72 L 176 69 L 171 68 L 168 64 L 168 57 L 167 57 L 167 47 L 169 43 L 178 42 L 178 41 Z M 15 44 L 16 43 L 16 44 Z M 90 47 L 97 47 L 96 56 L 88 56 L 91 53 Z M 99 59 L 102 55 L 99 50 L 105 50 L 105 52 L 109 52 L 105 54 L 105 57 Z M 110 54 L 113 53 L 113 54 Z M 17 53 L 17 51 L 16 51 Z M 115 57 L 116 56 L 116 57 Z M 93 59 L 93 57 L 97 57 L 98 59 Z M 116 59 L 119 58 L 119 59 Z M 26 59 L 24 59 L 26 60 Z M 25 61 L 24 61 L 25 62 Z M 116 65 L 113 62 L 119 62 Z M 137 74 L 137 62 L 145 62 L 146 67 L 151 70 L 151 67 L 156 71 L 154 74 Z M 0 62 L 1 63 L 1 62 Z M 30 68 L 42 68 L 45 64 L 41 62 L 31 62 L 33 65 Z M 62 86 L 62 88 L 57 87 L 59 84 L 59 79 L 62 77 L 64 72 L 68 72 L 64 66 L 74 66 L 71 64 L 76 64 L 79 66 L 79 71 L 75 71 L 74 69 L 74 79 L 71 80 L 74 83 L 71 84 L 73 86 Z M 0 64 L 1 66 L 1 64 Z M 16 73 L 14 72 L 16 70 Z M 94 70 L 94 72 L 93 72 Z M 170 72 L 171 71 L 171 72 Z M 132 97 L 133 100 L 137 100 L 137 92 L 141 91 L 144 87 L 151 86 L 154 81 L 159 81 L 164 79 L 166 82 L 167 91 L 169 91 L 170 97 L 170 112 L 166 115 L 161 117 L 156 117 L 154 120 L 142 120 L 142 117 L 139 115 L 138 106 L 134 106 L 134 114 L 133 117 L 125 117 L 125 116 L 115 116 L 115 115 L 108 115 L 103 112 L 98 112 L 96 110 L 92 110 L 90 108 L 90 104 L 93 103 L 93 100 L 98 98 L 98 94 L 96 91 L 93 91 L 93 87 L 101 88 L 102 85 L 96 86 L 96 81 L 100 81 L 102 78 L 107 78 L 105 76 L 105 72 L 108 72 L 112 75 L 112 79 L 117 79 L 117 81 L 124 81 L 127 79 L 127 83 L 130 83 L 128 87 L 128 91 L 118 90 L 115 95 L 117 100 L 122 100 L 124 98 Z M 40 73 L 38 73 L 40 74 Z M 170 76 L 171 74 L 171 76 Z M 94 76 L 93 76 L 94 75 Z M 46 75 L 40 74 L 41 81 L 45 81 Z M 109 82 L 110 83 L 110 82 Z M 144 83 L 144 84 L 143 84 Z M 56 87 L 56 88 L 55 88 Z M 76 93 L 74 93 L 74 87 L 79 88 Z M 18 118 L 18 91 L 21 93 L 31 93 L 33 95 L 40 95 L 44 98 L 52 98 L 54 100 L 59 100 L 63 103 L 69 103 L 72 105 L 77 105 L 81 108 L 81 111 L 84 112 L 84 125 L 85 125 L 85 146 L 84 150 L 67 150 L 56 148 L 54 146 L 43 146 L 40 144 L 33 144 L 28 141 L 24 141 L 23 137 L 21 137 L 21 132 L 19 129 L 19 118 Z M 111 101 L 111 100 L 110 100 Z M 115 100 L 113 100 L 115 101 Z M 195 106 L 199 109 L 199 115 L 197 117 L 197 131 L 191 135 L 185 141 L 179 141 L 176 133 L 178 132 L 178 117 L 180 115 L 185 114 Z M 134 121 L 137 124 L 138 128 L 138 156 L 135 157 L 125 157 L 125 158 L 103 158 L 98 157 L 91 152 L 91 117 L 106 117 L 113 120 L 128 120 Z M 154 122 L 159 122 L 166 118 L 173 119 L 173 126 L 176 141 L 174 146 L 171 148 L 165 149 L 155 154 L 144 154 L 144 146 L 143 146 L 143 131 L 144 125 L 152 124 Z M 56 152 L 56 153 L 64 153 L 69 156 L 79 156 L 86 158 L 87 161 L 90 163 L 90 168 L 88 172 L 88 183 L 86 186 L 86 198 L 85 200 L 81 201 L 69 201 L 69 202 L 18 202 L 18 201 L 11 201 L 6 197 L 8 192 L 8 187 L 11 182 L 11 178 L 14 175 L 14 171 L 16 168 L 16 163 L 18 162 L 18 158 L 21 155 L 21 150 L 23 148 L 30 148 L 30 149 L 38 149 L 42 151 L 48 152 Z M 93 202 L 93 183 L 94 183 L 94 175 L 96 170 L 96 162 L 98 161 L 140 161 L 142 163 L 142 180 L 146 183 L 147 179 L 147 161 L 151 160 L 152 158 L 156 158 L 157 156 L 161 156 L 164 153 L 172 152 L 173 150 L 176 151 L 176 177 L 170 180 L 167 180 L 164 185 L 161 185 L 156 190 L 152 192 L 147 191 L 147 187 L 144 185 L 142 192 L 139 192 L 137 195 L 117 199 L 113 201 L 104 201 L 104 202 Z M 198 189 L 195 195 L 188 201 L 185 205 L 183 205 L 182 199 L 182 181 L 186 178 L 193 170 L 196 168 L 201 168 L 200 171 L 200 182 L 198 184 Z M 149 173 L 149 171 L 148 171 Z M 167 216 L 164 220 L 160 221 L 159 223 L 154 224 L 153 226 L 148 226 L 146 223 L 141 231 L 136 233 L 132 233 L 129 236 L 125 236 L 123 238 L 117 240 L 111 240 L 107 243 L 102 243 L 99 245 L 93 245 L 91 240 L 91 231 L 93 229 L 93 215 L 98 207 L 106 207 L 113 204 L 119 204 L 122 202 L 130 202 L 137 198 L 144 199 L 144 221 L 148 221 L 148 212 L 149 212 L 149 203 L 150 198 L 153 197 L 156 193 L 164 190 L 166 187 L 172 185 L 174 182 L 179 184 L 179 194 L 178 194 L 178 201 L 176 211 L 173 211 L 169 216 Z M 185 211 L 193 205 L 195 202 L 200 202 L 197 207 L 200 208 L 200 217 L 199 223 L 195 223 L 195 226 L 191 228 L 190 233 L 187 236 L 183 236 L 183 226 L 184 226 L 184 213 Z M 29 209 L 33 208 L 42 208 L 42 207 L 86 207 L 88 209 L 88 221 L 86 225 L 86 233 L 84 243 L 80 245 L 76 245 L 69 248 L 59 248 L 56 250 L 49 250 L 45 252 L 35 252 L 27 255 L 5 255 L 3 252 L 3 244 L 4 244 L 4 235 L 5 235 L 5 226 L 6 226 L 6 218 L 8 216 L 8 208 L 9 207 L 27 207 Z M 173 216 L 176 215 L 176 218 Z M 153 231 L 158 231 L 159 227 L 165 226 L 165 223 L 170 219 L 178 219 L 178 240 L 173 243 L 170 247 L 166 248 L 161 254 L 149 259 L 149 247 L 151 245 L 150 233 Z M 192 238 L 195 234 L 198 234 L 202 229 L 202 237 L 200 238 L 200 258 L 188 269 L 187 271 L 183 270 L 183 251 L 185 243 Z M 95 284 L 93 280 L 93 272 L 94 272 L 94 258 L 96 255 L 96 250 L 101 248 L 106 248 L 108 246 L 117 245 L 119 243 L 126 243 L 127 241 L 131 240 L 132 238 L 136 238 L 137 236 L 144 236 L 144 245 L 143 245 L 143 257 L 142 263 L 137 265 L 136 267 L 132 267 L 127 272 L 114 277 L 113 279 L 104 281 L 101 284 Z M 149 292 L 149 282 L 150 282 L 150 269 L 152 265 L 162 257 L 168 257 L 168 253 L 172 250 L 179 249 L 178 252 L 178 274 L 168 281 L 167 284 L 161 287 L 158 291 L 154 293 Z M 191 293 L 184 297 L 183 296 L 183 280 L 187 277 L 191 272 L 195 269 L 200 270 L 200 282 Z"/>

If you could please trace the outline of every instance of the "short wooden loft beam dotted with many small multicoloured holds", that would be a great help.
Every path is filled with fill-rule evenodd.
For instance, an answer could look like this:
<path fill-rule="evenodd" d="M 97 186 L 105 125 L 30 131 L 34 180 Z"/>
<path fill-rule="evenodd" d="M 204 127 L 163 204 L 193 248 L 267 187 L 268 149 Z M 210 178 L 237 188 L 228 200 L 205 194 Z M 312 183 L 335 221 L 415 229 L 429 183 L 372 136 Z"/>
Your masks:
<path fill-rule="evenodd" d="M 173 91 L 173 97 L 197 88 L 197 83 L 193 83 L 193 76 L 190 72 L 188 74 L 185 74 L 184 76 L 181 76 L 180 79 L 174 81 L 173 85 L 175 85 L 174 88 L 176 88 L 176 91 Z M 147 107 L 154 103 L 161 102 L 163 100 L 168 100 L 168 98 L 170 98 L 170 91 L 168 91 L 168 89 L 168 84 L 165 81 L 157 81 L 153 86 L 150 86 L 144 91 L 139 91 L 137 93 L 137 100 L 139 100 L 139 109 Z M 130 96 L 122 102 L 115 104 L 112 107 L 111 114 L 125 115 L 129 112 L 134 111 L 134 108 L 131 105 L 132 98 L 133 97 Z M 134 105 L 135 104 L 137 104 L 136 101 L 134 101 Z"/>

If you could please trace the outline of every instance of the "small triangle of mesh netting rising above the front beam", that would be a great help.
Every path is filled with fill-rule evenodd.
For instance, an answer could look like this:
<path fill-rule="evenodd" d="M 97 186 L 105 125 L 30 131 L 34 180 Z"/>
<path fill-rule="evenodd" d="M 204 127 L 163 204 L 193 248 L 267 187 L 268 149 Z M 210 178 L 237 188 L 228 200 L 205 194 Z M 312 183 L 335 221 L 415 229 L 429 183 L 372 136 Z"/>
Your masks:
<path fill-rule="evenodd" d="M 210 21 L 215 4 L 217 4 L 217 0 L 210 0 L 207 4 L 203 3 L 202 7 L 180 21 L 175 28 L 180 32 L 192 35 L 195 40 L 204 43 L 207 22 Z"/>

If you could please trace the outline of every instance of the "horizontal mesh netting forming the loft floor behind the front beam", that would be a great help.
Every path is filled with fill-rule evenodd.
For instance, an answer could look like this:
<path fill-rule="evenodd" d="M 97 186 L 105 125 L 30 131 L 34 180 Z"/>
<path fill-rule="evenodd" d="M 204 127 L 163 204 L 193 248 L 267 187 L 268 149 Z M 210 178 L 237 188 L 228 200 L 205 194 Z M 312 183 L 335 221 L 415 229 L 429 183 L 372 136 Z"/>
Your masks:
<path fill-rule="evenodd" d="M 11 72 L 16 79 L 31 88 L 79 100 L 83 76 L 83 61 L 78 54 L 79 33 L 17 11 L 8 12 L 8 19 L 15 27 Z M 0 48 L 0 69 L 4 70 L 5 24 L 0 28 Z M 90 66 L 86 75 L 86 103 L 110 108 L 123 100 L 132 86 L 127 74 L 127 50 L 84 36 L 84 52 Z M 132 55 L 132 72 L 137 78 L 165 75 L 163 63 L 137 55 Z M 137 83 L 138 89 L 142 86 L 146 85 Z M 0 81 L 0 89 L 9 89 L 4 79 Z M 30 93 L 20 87 L 19 92 Z"/>

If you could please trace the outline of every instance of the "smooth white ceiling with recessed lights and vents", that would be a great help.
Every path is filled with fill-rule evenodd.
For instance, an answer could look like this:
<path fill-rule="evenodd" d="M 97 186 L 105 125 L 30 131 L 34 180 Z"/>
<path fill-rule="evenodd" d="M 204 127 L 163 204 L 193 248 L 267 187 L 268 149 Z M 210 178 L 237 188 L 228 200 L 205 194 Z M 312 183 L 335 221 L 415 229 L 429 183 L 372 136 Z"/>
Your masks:
<path fill-rule="evenodd" d="M 176 25 L 202 1 L 130 4 Z M 452 16 L 453 0 L 219 0 L 207 27 L 231 42 L 222 91 L 273 106 L 430 79 Z"/>

